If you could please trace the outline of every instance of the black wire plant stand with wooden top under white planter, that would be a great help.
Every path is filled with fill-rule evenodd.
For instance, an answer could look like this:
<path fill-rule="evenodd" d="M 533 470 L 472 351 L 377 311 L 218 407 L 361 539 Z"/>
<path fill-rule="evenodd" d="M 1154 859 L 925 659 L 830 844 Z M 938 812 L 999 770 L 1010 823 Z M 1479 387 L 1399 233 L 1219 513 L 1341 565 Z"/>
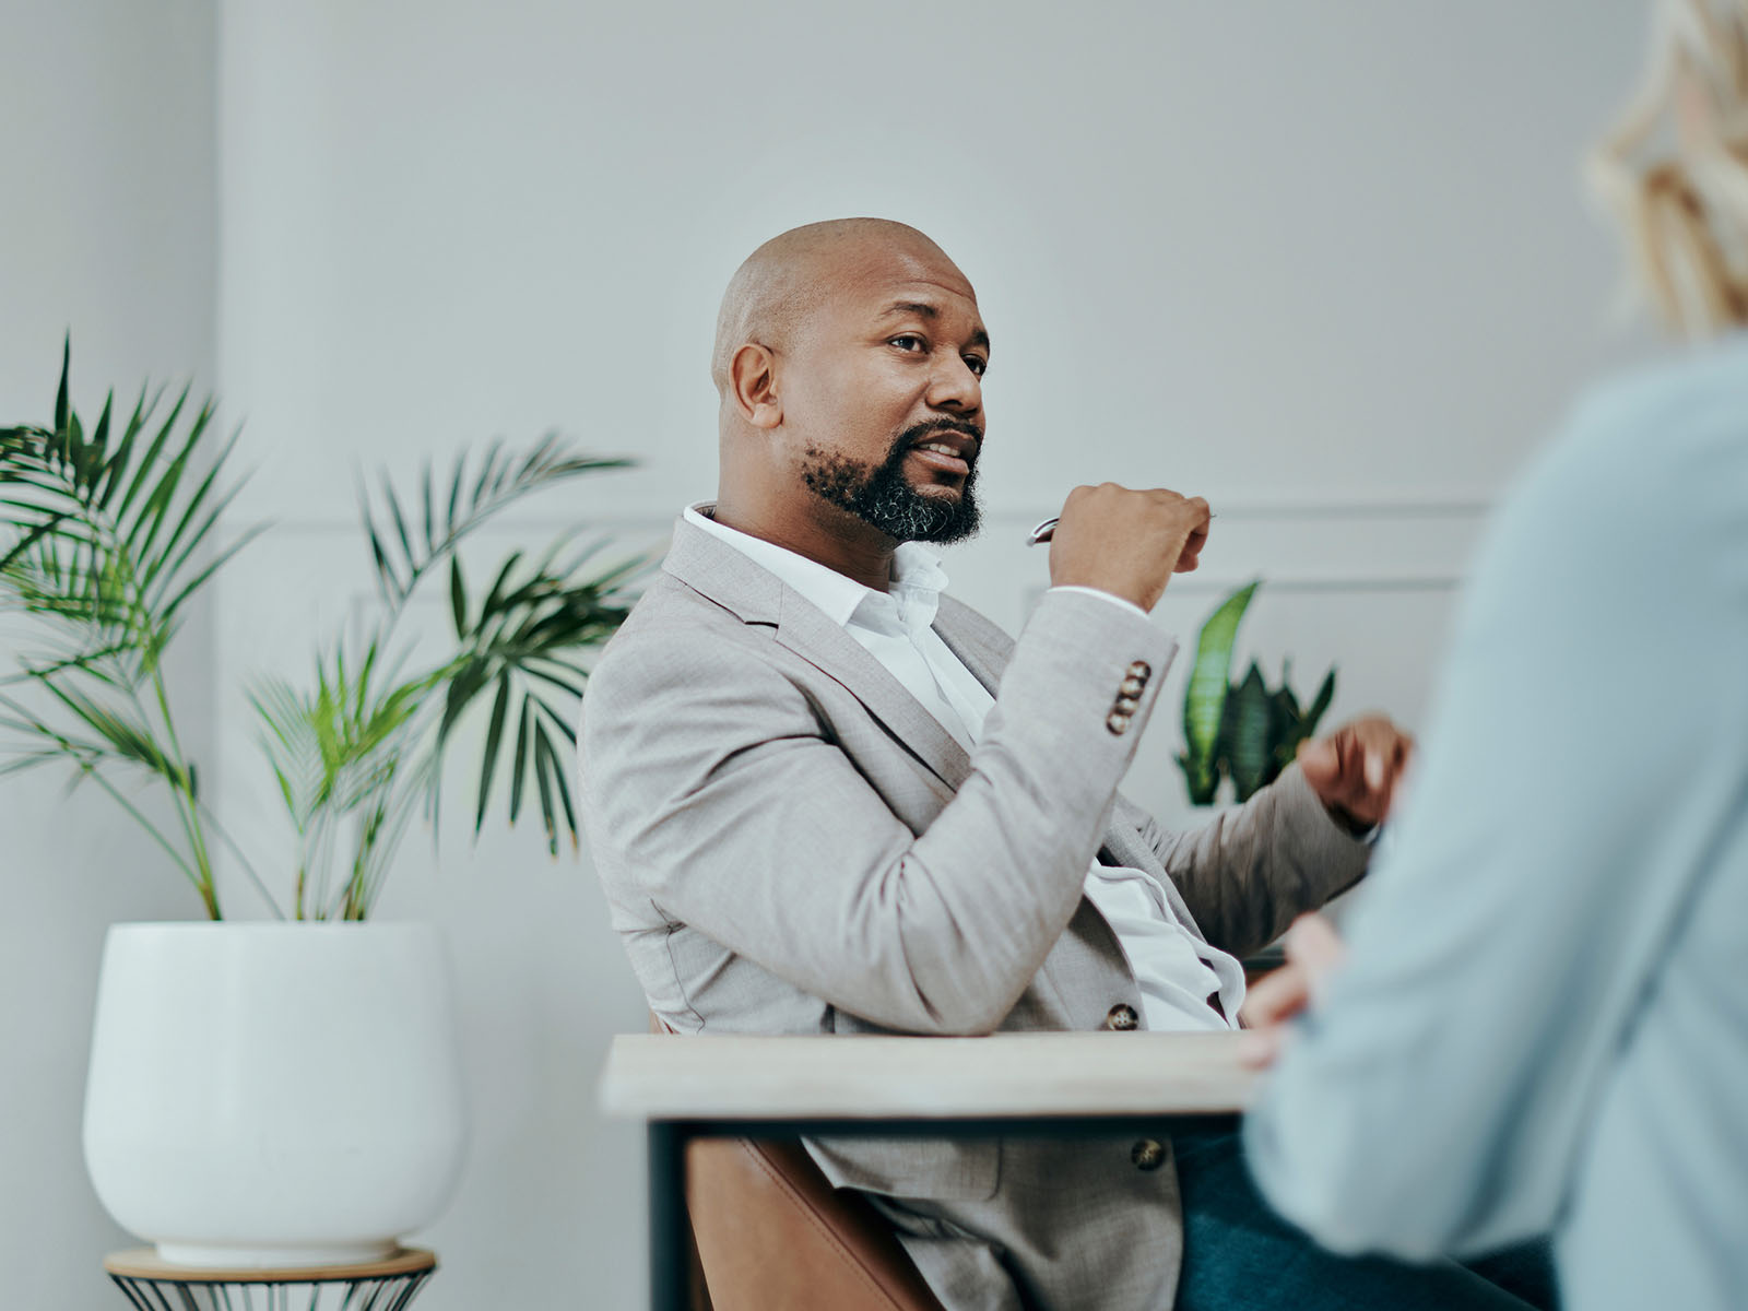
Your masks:
<path fill-rule="evenodd" d="M 135 1248 L 112 1252 L 103 1269 L 142 1311 L 402 1311 L 437 1257 L 402 1248 L 360 1266 L 255 1271 L 171 1266 L 152 1248 Z"/>

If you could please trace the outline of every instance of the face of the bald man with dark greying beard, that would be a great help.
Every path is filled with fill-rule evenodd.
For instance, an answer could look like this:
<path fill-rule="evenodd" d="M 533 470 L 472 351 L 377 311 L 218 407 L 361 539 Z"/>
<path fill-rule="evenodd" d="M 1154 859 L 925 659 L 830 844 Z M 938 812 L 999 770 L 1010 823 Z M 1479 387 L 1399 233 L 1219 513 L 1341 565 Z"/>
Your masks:
<path fill-rule="evenodd" d="M 783 423 L 806 489 L 900 542 L 977 531 L 989 337 L 946 257 L 879 245 L 797 329 Z"/>

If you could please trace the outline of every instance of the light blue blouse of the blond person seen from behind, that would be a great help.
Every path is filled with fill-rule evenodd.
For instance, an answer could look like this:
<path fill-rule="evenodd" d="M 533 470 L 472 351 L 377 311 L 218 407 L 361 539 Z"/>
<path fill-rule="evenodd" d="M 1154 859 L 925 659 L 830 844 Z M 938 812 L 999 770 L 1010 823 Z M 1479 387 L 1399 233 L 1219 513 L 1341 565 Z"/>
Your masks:
<path fill-rule="evenodd" d="M 1748 336 L 1507 498 L 1349 956 L 1246 1124 L 1339 1252 L 1554 1232 L 1564 1306 L 1748 1308 Z"/>

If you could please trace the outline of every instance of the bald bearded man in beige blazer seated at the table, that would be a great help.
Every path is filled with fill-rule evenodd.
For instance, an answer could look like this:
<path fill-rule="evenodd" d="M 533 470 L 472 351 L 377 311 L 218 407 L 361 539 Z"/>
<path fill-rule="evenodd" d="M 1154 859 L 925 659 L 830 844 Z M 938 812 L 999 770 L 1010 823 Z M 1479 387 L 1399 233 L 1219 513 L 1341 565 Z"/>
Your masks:
<path fill-rule="evenodd" d="M 1386 720 L 1201 832 L 1117 792 L 1176 652 L 1147 612 L 1206 502 L 1077 488 L 1017 642 L 942 594 L 925 544 L 977 526 L 989 350 L 965 274 L 902 224 L 785 232 L 729 283 L 717 500 L 580 734 L 614 925 L 680 1033 L 1229 1030 L 1239 958 L 1365 867 L 1407 755 Z M 1231 1136 L 808 1148 L 954 1311 L 1521 1306 L 1454 1266 L 1321 1257 Z"/>

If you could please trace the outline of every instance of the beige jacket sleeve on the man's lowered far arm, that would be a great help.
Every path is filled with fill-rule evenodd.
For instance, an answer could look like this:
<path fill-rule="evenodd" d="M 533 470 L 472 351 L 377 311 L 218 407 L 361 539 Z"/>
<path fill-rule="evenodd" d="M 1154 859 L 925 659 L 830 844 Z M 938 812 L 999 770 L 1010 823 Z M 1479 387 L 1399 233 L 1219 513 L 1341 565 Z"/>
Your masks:
<path fill-rule="evenodd" d="M 1148 818 L 1141 837 L 1183 893 L 1203 937 L 1238 958 L 1358 881 L 1370 857 L 1365 843 L 1330 818 L 1299 766 L 1201 829 L 1175 834 Z"/>

